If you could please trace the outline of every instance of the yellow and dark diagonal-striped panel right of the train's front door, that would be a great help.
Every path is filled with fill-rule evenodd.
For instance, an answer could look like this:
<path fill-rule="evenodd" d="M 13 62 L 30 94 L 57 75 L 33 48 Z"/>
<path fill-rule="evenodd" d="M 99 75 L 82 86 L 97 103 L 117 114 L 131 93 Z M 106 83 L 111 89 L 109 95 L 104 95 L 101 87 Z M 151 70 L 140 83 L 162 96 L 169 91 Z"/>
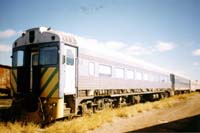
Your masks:
<path fill-rule="evenodd" d="M 41 69 L 40 96 L 59 97 L 59 80 L 57 67 L 44 67 Z"/>

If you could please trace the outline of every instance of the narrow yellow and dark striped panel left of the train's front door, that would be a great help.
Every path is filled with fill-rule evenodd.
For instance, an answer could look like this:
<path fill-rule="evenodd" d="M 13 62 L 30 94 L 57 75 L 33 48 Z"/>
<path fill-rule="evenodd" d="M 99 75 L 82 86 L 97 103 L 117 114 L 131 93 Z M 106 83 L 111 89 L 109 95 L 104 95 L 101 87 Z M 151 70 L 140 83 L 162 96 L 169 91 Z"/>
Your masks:
<path fill-rule="evenodd" d="M 17 92 L 17 69 L 11 70 L 11 89 L 13 93 Z"/>

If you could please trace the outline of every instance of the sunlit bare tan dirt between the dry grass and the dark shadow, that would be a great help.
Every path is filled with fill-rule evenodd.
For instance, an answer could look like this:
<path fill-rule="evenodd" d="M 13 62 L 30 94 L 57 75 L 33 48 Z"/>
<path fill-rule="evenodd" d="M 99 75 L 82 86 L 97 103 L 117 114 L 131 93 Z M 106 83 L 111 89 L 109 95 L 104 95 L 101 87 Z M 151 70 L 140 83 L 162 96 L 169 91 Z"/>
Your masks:
<path fill-rule="evenodd" d="M 91 133 L 105 133 L 105 132 L 131 132 L 140 131 L 147 127 L 160 125 L 164 123 L 171 123 L 176 120 L 198 116 L 198 124 L 200 124 L 200 94 L 189 97 L 186 100 L 178 100 L 177 104 L 167 109 L 154 109 L 140 113 L 130 118 L 117 118 L 112 123 L 106 123 L 102 127 L 97 128 Z M 176 122 L 174 122 L 177 124 Z M 194 123 L 195 124 L 195 123 Z M 197 125 L 197 123 L 196 123 Z M 200 127 L 200 125 L 197 125 Z M 199 129 L 199 128 L 198 128 Z M 141 130 L 143 131 L 143 130 Z M 149 131 L 149 130 L 144 130 Z M 151 130 L 152 131 L 152 130 Z M 154 131 L 154 130 L 153 130 Z M 159 130 L 162 131 L 162 130 Z M 182 129 L 184 131 L 184 129 Z"/>

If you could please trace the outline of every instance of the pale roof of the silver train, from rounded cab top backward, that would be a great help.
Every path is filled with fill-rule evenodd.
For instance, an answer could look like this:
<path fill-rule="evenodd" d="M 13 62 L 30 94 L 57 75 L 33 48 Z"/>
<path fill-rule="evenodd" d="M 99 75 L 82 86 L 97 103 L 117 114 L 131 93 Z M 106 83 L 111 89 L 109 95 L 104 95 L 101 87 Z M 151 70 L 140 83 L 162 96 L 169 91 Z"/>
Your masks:
<path fill-rule="evenodd" d="M 30 40 L 29 40 L 31 31 L 35 31 L 35 36 L 36 36 L 35 40 L 32 43 L 30 43 Z M 24 33 L 22 33 L 22 36 L 19 37 L 13 43 L 13 48 L 18 47 L 18 46 L 23 46 L 23 45 L 31 45 L 35 43 L 45 43 L 45 42 L 53 42 L 53 41 L 55 42 L 59 41 L 59 42 L 63 42 L 63 43 L 74 45 L 74 46 L 78 45 L 80 47 L 81 54 L 86 54 L 86 55 L 99 57 L 99 58 L 105 58 L 105 59 L 118 62 L 118 63 L 123 62 L 123 64 L 131 65 L 131 66 L 135 66 L 141 69 L 159 72 L 163 74 L 173 73 L 169 70 L 163 69 L 156 65 L 144 62 L 142 60 L 138 60 L 130 56 L 126 56 L 121 53 L 111 52 L 111 51 L 109 52 L 106 50 L 103 51 L 103 53 L 99 51 L 92 51 L 90 49 L 90 46 L 86 46 L 89 49 L 87 49 L 86 47 L 82 48 L 79 42 L 77 42 L 78 41 L 77 36 L 69 34 L 69 33 L 61 32 L 61 31 L 52 30 L 51 28 L 47 28 L 47 27 L 36 27 L 36 28 L 31 28 L 31 29 L 26 30 Z M 87 45 L 87 44 L 84 44 L 84 45 Z M 183 76 L 177 73 L 175 75 L 187 78 L 186 76 Z"/>

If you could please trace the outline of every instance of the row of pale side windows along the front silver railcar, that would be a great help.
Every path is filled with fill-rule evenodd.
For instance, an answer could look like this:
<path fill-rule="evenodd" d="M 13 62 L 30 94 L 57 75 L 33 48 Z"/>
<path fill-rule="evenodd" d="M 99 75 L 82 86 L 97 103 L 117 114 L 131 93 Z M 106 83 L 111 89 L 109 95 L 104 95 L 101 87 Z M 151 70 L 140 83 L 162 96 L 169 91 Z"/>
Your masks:
<path fill-rule="evenodd" d="M 88 64 L 88 73 L 90 76 L 95 75 L 95 63 L 89 62 Z M 114 71 L 113 71 L 114 70 Z M 126 73 L 126 74 L 125 74 Z M 124 68 L 112 68 L 112 66 L 99 64 L 98 66 L 98 75 L 99 76 L 107 76 L 107 77 L 115 77 L 119 79 L 130 79 L 130 80 L 146 80 L 146 81 L 155 81 L 155 82 L 169 82 L 169 77 L 153 75 L 149 73 L 145 73 L 139 70 L 125 70 Z"/>

